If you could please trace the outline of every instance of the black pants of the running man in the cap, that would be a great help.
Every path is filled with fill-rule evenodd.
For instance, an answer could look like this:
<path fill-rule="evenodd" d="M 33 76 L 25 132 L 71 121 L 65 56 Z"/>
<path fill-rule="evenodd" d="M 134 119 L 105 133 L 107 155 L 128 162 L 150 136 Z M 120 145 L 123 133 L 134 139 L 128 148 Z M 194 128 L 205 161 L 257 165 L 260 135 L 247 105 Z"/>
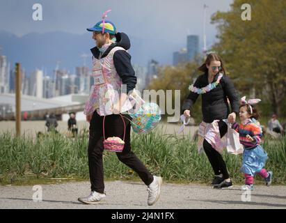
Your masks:
<path fill-rule="evenodd" d="M 131 119 L 128 115 L 122 115 Z M 100 116 L 95 111 L 90 121 L 90 133 L 88 142 L 88 167 L 91 183 L 91 190 L 99 193 L 104 193 L 104 176 L 103 176 L 103 162 L 102 153 L 103 146 L 103 122 L 104 116 Z M 133 169 L 138 176 L 143 180 L 145 185 L 150 185 L 153 181 L 153 176 L 146 169 L 145 165 L 136 157 L 131 151 L 130 146 L 130 122 L 124 118 L 125 121 L 125 146 L 122 153 L 116 153 L 118 159 Z M 124 124 L 119 114 L 111 114 L 105 117 L 104 122 L 105 138 L 120 137 L 123 139 Z"/>

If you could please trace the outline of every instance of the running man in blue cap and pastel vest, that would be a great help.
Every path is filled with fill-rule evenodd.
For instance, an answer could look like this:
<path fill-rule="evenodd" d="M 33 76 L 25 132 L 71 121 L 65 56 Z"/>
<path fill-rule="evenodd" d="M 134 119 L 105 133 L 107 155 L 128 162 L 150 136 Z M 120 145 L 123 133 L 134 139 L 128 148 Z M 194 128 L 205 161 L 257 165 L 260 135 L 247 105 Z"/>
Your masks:
<path fill-rule="evenodd" d="M 87 30 L 93 32 L 93 40 L 96 42 L 96 47 L 90 49 L 93 54 L 95 84 L 90 89 L 90 97 L 84 109 L 86 121 L 90 123 L 88 167 L 91 192 L 87 197 L 80 197 L 78 200 L 82 203 L 98 203 L 106 197 L 102 162 L 103 131 L 105 130 L 106 137 L 120 137 L 120 139 L 123 139 L 125 132 L 125 146 L 122 152 L 116 155 L 148 186 L 148 205 L 153 205 L 159 199 L 162 178 L 152 176 L 141 160 L 131 151 L 131 125 L 128 119 L 132 118 L 127 114 L 122 114 L 132 109 L 127 93 L 136 86 L 131 56 L 127 52 L 130 48 L 130 40 L 125 33 L 117 32 L 115 24 L 111 21 L 102 20 Z M 127 92 L 122 92 L 122 85 L 126 86 Z"/>

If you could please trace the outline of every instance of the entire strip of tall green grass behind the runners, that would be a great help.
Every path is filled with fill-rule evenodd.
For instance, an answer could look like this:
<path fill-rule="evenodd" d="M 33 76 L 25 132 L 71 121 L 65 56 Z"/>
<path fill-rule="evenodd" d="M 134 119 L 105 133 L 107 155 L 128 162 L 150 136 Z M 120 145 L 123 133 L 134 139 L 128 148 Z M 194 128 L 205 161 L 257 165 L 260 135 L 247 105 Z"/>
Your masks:
<path fill-rule="evenodd" d="M 265 140 L 262 144 L 269 155 L 266 168 L 273 171 L 273 183 L 286 183 L 286 137 Z M 15 137 L 0 134 L 0 181 L 5 176 L 75 177 L 88 179 L 88 132 L 70 139 L 61 134 L 44 134 L 32 139 L 26 135 Z M 209 183 L 212 167 L 207 156 L 198 154 L 196 141 L 188 137 L 164 134 L 164 130 L 150 134 L 132 134 L 132 151 L 150 172 L 170 182 Z M 230 176 L 235 183 L 243 183 L 240 172 L 241 155 L 223 153 Z M 115 153 L 104 152 L 105 179 L 138 179 L 129 167 L 122 164 Z M 255 182 L 262 182 L 257 177 Z"/>

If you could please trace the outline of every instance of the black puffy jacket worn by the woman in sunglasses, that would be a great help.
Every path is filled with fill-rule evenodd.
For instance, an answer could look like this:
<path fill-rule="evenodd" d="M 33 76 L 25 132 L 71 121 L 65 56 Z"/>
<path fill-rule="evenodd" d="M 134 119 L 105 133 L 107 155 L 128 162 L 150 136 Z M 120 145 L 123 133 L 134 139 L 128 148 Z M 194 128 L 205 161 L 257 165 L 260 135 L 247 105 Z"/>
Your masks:
<path fill-rule="evenodd" d="M 219 73 L 216 74 L 212 83 L 216 82 L 218 77 Z M 207 84 L 209 84 L 209 81 L 207 79 L 207 73 L 205 73 L 196 79 L 193 86 L 200 89 L 207 86 Z M 184 113 L 184 110 L 193 107 L 197 98 L 198 94 L 191 91 L 188 98 L 184 101 L 184 105 L 182 105 L 182 113 Z M 227 98 L 230 100 L 230 107 L 228 106 Z M 207 93 L 202 93 L 202 121 L 212 123 L 214 120 L 228 118 L 230 108 L 232 110 L 231 112 L 239 114 L 239 99 L 235 87 L 230 81 L 230 78 L 223 75 L 215 89 Z"/>

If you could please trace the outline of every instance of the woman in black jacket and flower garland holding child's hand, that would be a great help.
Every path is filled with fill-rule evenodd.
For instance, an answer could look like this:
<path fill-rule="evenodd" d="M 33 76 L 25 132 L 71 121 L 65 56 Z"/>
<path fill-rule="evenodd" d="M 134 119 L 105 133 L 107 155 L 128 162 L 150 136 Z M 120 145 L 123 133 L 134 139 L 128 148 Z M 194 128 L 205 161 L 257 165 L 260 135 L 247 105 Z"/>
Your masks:
<path fill-rule="evenodd" d="M 182 106 L 182 111 L 184 116 L 190 117 L 191 107 L 198 96 L 202 95 L 203 118 L 198 134 L 203 141 L 198 146 L 204 148 L 214 170 L 215 176 L 211 185 L 218 188 L 230 187 L 232 181 L 221 156 L 223 149 L 221 137 L 228 130 L 228 125 L 223 119 L 228 118 L 228 122 L 235 122 L 236 114 L 239 113 L 239 100 L 232 82 L 225 75 L 223 62 L 219 55 L 208 54 L 205 63 L 198 70 L 204 74 L 200 75 L 195 84 L 189 87 L 190 93 Z"/>

